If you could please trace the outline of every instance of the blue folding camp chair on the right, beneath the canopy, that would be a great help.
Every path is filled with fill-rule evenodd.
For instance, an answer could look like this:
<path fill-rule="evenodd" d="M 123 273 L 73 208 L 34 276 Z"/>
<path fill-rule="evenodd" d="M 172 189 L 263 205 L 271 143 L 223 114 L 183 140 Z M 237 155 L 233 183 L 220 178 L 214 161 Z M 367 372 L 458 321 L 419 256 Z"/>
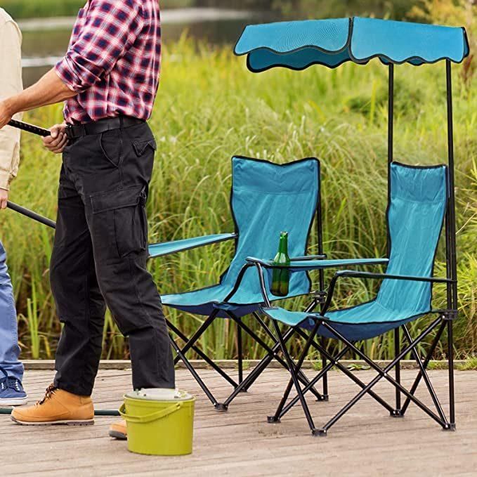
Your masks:
<path fill-rule="evenodd" d="M 426 372 L 426 367 L 429 364 L 429 360 L 431 360 L 447 322 L 455 318 L 456 315 L 454 310 L 434 310 L 431 307 L 432 285 L 434 283 L 445 283 L 449 285 L 453 282 L 453 280 L 433 277 L 433 266 L 436 259 L 438 240 L 443 228 L 443 219 L 449 198 L 447 184 L 447 166 L 416 167 L 405 166 L 397 162 L 391 164 L 390 203 L 387 211 L 391 254 L 386 273 L 363 273 L 351 270 L 337 272 L 330 284 L 327 301 L 321 312 L 296 312 L 287 311 L 284 308 L 274 308 L 268 300 L 266 288 L 262 287 L 266 306 L 262 307 L 261 311 L 273 320 L 273 327 L 277 339 L 280 341 L 281 350 L 289 364 L 289 372 L 292 375 L 292 379 L 289 381 L 282 401 L 275 415 L 269 417 L 269 422 L 279 422 L 281 417 L 297 402 L 300 402 L 313 435 L 324 436 L 328 429 L 350 410 L 362 396 L 369 394 L 388 410 L 393 417 L 403 417 L 408 405 L 412 401 L 426 412 L 429 417 L 436 420 L 443 429 L 455 429 L 455 421 L 453 419 L 452 334 L 449 337 L 448 356 L 450 360 L 450 421 L 445 417 L 443 407 L 440 405 L 431 380 Z M 260 259 L 249 257 L 248 261 L 256 265 L 261 277 L 264 276 L 263 268 L 267 270 L 273 268 L 269 262 Z M 299 274 L 312 268 L 313 266 L 311 266 L 310 263 L 292 262 L 290 265 L 290 270 Z M 328 311 L 333 298 L 336 281 L 345 277 L 381 279 L 384 281 L 381 284 L 376 299 L 359 306 L 354 306 L 353 308 Z M 412 338 L 406 324 L 428 313 L 436 313 L 439 316 L 431 325 L 426 327 L 424 332 Z M 278 322 L 289 325 L 292 329 L 295 329 L 298 334 L 306 338 L 306 346 L 296 363 L 294 363 L 289 356 Z M 311 329 L 311 333 L 307 336 L 303 328 Z M 417 346 L 436 328 L 437 333 L 433 339 L 431 348 L 429 348 L 426 358 L 422 361 L 417 351 Z M 407 341 L 403 349 L 399 348 L 399 329 L 402 329 L 405 341 Z M 395 330 L 396 333 L 396 357 L 389 365 L 381 369 L 381 367 L 368 358 L 355 343 L 380 336 L 391 330 Z M 337 339 L 344 344 L 344 348 L 339 355 L 333 357 L 315 341 L 316 334 Z M 303 360 L 311 346 L 325 355 L 329 363 L 321 370 L 315 379 L 311 380 L 308 386 L 301 388 L 299 382 L 296 380 L 296 373 L 301 370 Z M 377 371 L 378 376 L 372 379 L 369 384 L 364 384 L 358 377 L 355 377 L 350 370 L 346 369 L 346 367 L 339 362 L 339 359 L 347 351 L 353 351 L 353 353 L 359 355 L 373 370 Z M 400 384 L 399 368 L 400 360 L 408 353 L 411 353 L 419 367 L 419 374 L 410 391 Z M 325 426 L 321 429 L 316 429 L 310 411 L 308 410 L 305 394 L 308 392 L 308 388 L 317 384 L 333 365 L 351 377 L 351 379 L 360 386 L 361 391 L 350 400 L 336 416 L 329 420 Z M 396 367 L 396 379 L 389 374 L 394 367 Z M 386 403 L 384 399 L 379 397 L 372 390 L 374 385 L 381 379 L 387 379 L 396 387 L 396 406 Z M 421 379 L 424 379 L 426 387 L 431 394 L 437 414 L 415 396 L 417 386 Z M 296 388 L 297 396 L 287 403 L 289 393 L 293 387 Z M 402 406 L 400 400 L 401 394 L 406 398 Z"/>

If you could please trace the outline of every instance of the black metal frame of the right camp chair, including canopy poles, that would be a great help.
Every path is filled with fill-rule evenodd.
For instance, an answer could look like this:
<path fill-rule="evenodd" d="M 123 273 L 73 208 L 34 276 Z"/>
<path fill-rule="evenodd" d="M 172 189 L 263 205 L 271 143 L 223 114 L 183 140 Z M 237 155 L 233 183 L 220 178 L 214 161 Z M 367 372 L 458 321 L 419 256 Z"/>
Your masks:
<path fill-rule="evenodd" d="M 314 313 L 311 315 L 310 318 L 315 319 L 315 325 L 311 332 L 307 334 L 301 327 L 290 327 L 287 331 L 285 336 L 288 336 L 291 330 L 294 333 L 299 334 L 303 339 L 306 340 L 306 344 L 303 348 L 301 355 L 299 356 L 296 363 L 292 360 L 289 352 L 287 350 L 286 341 L 284 339 L 284 335 L 282 334 L 282 330 L 278 325 L 276 320 L 273 321 L 273 326 L 275 329 L 275 334 L 277 339 L 280 343 L 280 351 L 285 356 L 285 359 L 288 362 L 288 370 L 291 374 L 291 378 L 287 387 L 285 388 L 285 393 L 280 400 L 280 403 L 275 411 L 273 416 L 268 417 L 268 422 L 270 423 L 277 423 L 280 422 L 280 419 L 287 414 L 287 412 L 296 405 L 296 403 L 300 403 L 301 407 L 303 408 L 303 412 L 305 414 L 306 420 L 308 422 L 308 426 L 311 429 L 313 436 L 326 436 L 329 429 L 336 424 L 336 422 L 341 419 L 341 417 L 348 412 L 348 410 L 353 407 L 360 398 L 365 396 L 365 394 L 369 394 L 374 400 L 377 400 L 379 404 L 381 404 L 390 414 L 391 417 L 404 417 L 409 407 L 410 403 L 414 403 L 419 407 L 422 411 L 424 411 L 431 419 L 436 421 L 444 431 L 455 431 L 456 424 L 455 424 L 455 388 L 454 388 L 454 358 L 453 358 L 453 335 L 452 335 L 452 326 L 454 320 L 457 318 L 457 254 L 456 254 L 456 226 L 455 226 L 455 180 L 454 180 L 454 145 L 453 145 L 453 126 L 452 126 L 452 75 L 451 75 L 451 63 L 450 60 L 446 60 L 446 81 L 447 81 L 447 144 L 448 144 L 448 174 L 447 174 L 447 191 L 448 191 L 448 201 L 447 201 L 447 209 L 445 212 L 445 244 L 446 244 L 446 266 L 447 266 L 447 277 L 446 278 L 437 278 L 437 277 L 412 277 L 412 276 L 405 276 L 405 275 L 387 275 L 385 273 L 367 273 L 367 272 L 354 272 L 350 270 L 341 271 L 335 273 L 332 281 L 330 282 L 329 289 L 327 292 L 327 297 L 325 303 L 322 305 L 320 313 Z M 388 103 L 388 185 L 391 184 L 391 163 L 393 162 L 393 109 L 394 109 L 394 66 L 391 63 L 389 65 L 389 103 Z M 388 202 L 391 203 L 391 188 L 388 188 Z M 391 253 L 391 236 L 389 234 L 388 228 L 388 256 Z M 263 277 L 263 263 L 256 262 L 254 263 L 256 269 L 258 270 L 259 276 Z M 337 280 L 340 277 L 358 277 L 358 278 L 367 278 L 372 280 L 409 280 L 409 281 L 416 281 L 416 282 L 430 282 L 431 284 L 440 283 L 445 284 L 447 286 L 447 309 L 445 310 L 432 310 L 431 314 L 438 314 L 438 318 L 434 320 L 431 325 L 426 327 L 424 332 L 420 333 L 417 338 L 412 339 L 407 326 L 404 324 L 398 324 L 398 327 L 393 330 L 394 338 L 395 338 L 395 357 L 384 369 L 379 367 L 377 363 L 367 357 L 365 353 L 363 353 L 355 344 L 348 339 L 346 339 L 343 334 L 341 334 L 335 327 L 333 323 L 330 322 L 326 318 L 326 313 L 329 309 L 329 306 L 332 302 L 332 298 L 334 295 L 334 289 L 336 286 Z M 263 280 L 261 280 L 261 289 L 263 294 L 263 299 L 265 303 L 265 308 L 263 311 L 266 313 L 267 308 L 271 308 L 270 301 L 266 296 L 267 291 L 266 287 L 263 286 Z M 308 310 L 310 311 L 310 310 Z M 271 315 L 270 315 L 271 318 Z M 419 318 L 419 317 L 409 317 L 411 318 Z M 320 329 L 327 330 L 329 334 L 332 334 L 335 339 L 341 341 L 344 344 L 344 348 L 333 357 L 329 353 L 327 353 L 325 346 L 323 343 L 318 343 L 315 339 Z M 431 332 L 437 329 L 436 335 L 433 338 L 431 346 L 429 348 L 428 353 L 426 354 L 424 360 L 419 356 L 419 352 L 417 351 L 417 345 L 421 343 L 421 341 L 428 336 Z M 440 338 L 443 335 L 444 330 L 447 329 L 447 362 L 449 366 L 449 417 L 447 418 L 445 412 L 443 410 L 443 406 L 440 404 L 438 396 L 436 394 L 435 389 L 431 384 L 431 379 L 427 374 L 427 367 L 429 362 L 432 358 L 434 351 L 436 350 L 436 346 L 440 341 Z M 401 346 L 401 332 L 403 334 L 403 338 L 405 339 L 405 344 Z M 299 383 L 299 379 L 297 379 L 297 374 L 301 372 L 301 366 L 303 364 L 303 360 L 306 358 L 308 351 L 310 348 L 313 347 L 318 350 L 323 358 L 323 367 L 322 370 L 318 373 L 318 375 L 311 379 L 307 386 L 301 387 Z M 356 377 L 350 370 L 347 370 L 346 367 L 341 365 L 339 360 L 348 352 L 353 351 L 355 355 L 358 355 L 362 360 L 364 360 L 367 365 L 369 365 L 372 370 L 377 372 L 377 377 L 372 379 L 369 384 L 364 384 L 358 377 Z M 417 362 L 417 367 L 419 372 L 417 374 L 414 383 L 410 390 L 407 390 L 401 383 L 400 383 L 400 361 L 410 353 L 414 360 Z M 328 360 L 328 362 L 327 362 Z M 360 386 L 361 390 L 356 396 L 351 399 L 344 407 L 339 410 L 339 412 L 332 417 L 324 426 L 320 429 L 315 427 L 313 422 L 313 418 L 311 417 L 311 412 L 308 408 L 308 404 L 306 403 L 305 394 L 310 390 L 311 387 L 315 386 L 320 380 L 325 380 L 327 376 L 327 372 L 331 369 L 332 366 L 337 367 L 339 370 L 343 371 L 348 377 L 350 377 L 355 384 Z M 390 372 L 395 370 L 395 378 L 391 377 Z M 391 383 L 396 388 L 396 405 L 390 405 L 384 399 L 380 398 L 372 388 L 375 384 L 377 384 L 381 379 L 386 379 L 389 383 Z M 416 398 L 415 393 L 417 391 L 417 387 L 419 386 L 420 381 L 424 380 L 426 384 L 426 388 L 429 391 L 431 396 L 431 400 L 433 402 L 433 406 L 436 408 L 436 412 L 431 410 L 428 406 L 422 403 L 421 400 Z M 325 381 L 324 385 L 325 385 Z M 289 400 L 289 394 L 292 391 L 292 388 L 296 390 L 296 396 Z M 405 398 L 404 403 L 402 402 L 402 398 Z"/>

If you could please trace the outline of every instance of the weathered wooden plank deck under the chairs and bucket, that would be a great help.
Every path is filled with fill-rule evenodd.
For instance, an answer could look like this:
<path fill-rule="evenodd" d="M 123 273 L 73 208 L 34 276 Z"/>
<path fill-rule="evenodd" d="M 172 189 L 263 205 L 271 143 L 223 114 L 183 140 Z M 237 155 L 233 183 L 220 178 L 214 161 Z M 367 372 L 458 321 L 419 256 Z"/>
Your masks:
<path fill-rule="evenodd" d="M 311 370 L 308 374 L 313 375 Z M 218 396 L 229 387 L 211 370 L 202 376 Z M 403 371 L 409 386 L 416 371 Z M 430 372 L 441 402 L 447 405 L 446 371 Z M 29 371 L 25 387 L 32 400 L 51 382 L 50 371 Z M 360 372 L 369 381 L 374 374 Z M 197 394 L 195 451 L 187 457 L 133 455 L 126 443 L 107 437 L 114 418 L 96 418 L 83 428 L 25 427 L 0 416 L 1 474 L 74 476 L 476 476 L 477 372 L 456 372 L 457 432 L 440 426 L 414 405 L 405 419 L 392 419 L 370 398 L 363 398 L 326 438 L 313 438 L 299 406 L 281 424 L 267 424 L 282 394 L 288 374 L 268 370 L 247 394 L 239 396 L 226 414 L 217 413 L 186 370 L 178 370 L 178 384 Z M 96 381 L 97 409 L 119 406 L 129 389 L 130 372 L 105 370 Z M 324 424 L 354 396 L 357 386 L 339 372 L 330 376 L 329 403 L 311 402 L 317 426 Z M 376 388 L 391 398 L 385 382 Z M 418 396 L 429 403 L 421 390 Z"/>

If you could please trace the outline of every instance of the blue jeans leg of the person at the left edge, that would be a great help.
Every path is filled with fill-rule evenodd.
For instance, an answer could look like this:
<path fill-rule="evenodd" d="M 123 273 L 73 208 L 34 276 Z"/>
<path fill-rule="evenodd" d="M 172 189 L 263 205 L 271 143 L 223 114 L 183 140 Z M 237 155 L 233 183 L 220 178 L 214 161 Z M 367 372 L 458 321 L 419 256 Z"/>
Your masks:
<path fill-rule="evenodd" d="M 6 266 L 6 253 L 0 242 L 0 366 L 8 376 L 22 380 L 23 365 L 18 360 L 18 324 L 13 287 Z"/>

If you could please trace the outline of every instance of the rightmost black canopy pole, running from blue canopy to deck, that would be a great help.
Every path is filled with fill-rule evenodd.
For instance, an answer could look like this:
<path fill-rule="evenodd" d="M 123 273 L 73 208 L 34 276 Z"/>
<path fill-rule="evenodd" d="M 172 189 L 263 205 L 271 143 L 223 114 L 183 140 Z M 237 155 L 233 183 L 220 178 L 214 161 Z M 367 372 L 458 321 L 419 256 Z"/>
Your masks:
<path fill-rule="evenodd" d="M 455 397 L 454 397 L 454 336 L 453 320 L 457 318 L 457 250 L 455 225 L 455 178 L 454 178 L 454 123 L 452 111 L 452 69 L 450 60 L 445 60 L 447 80 L 447 148 L 449 154 L 449 204 L 445 214 L 445 240 L 447 277 L 453 282 L 447 285 L 447 360 L 449 362 L 449 397 L 450 397 L 450 429 L 455 429 Z"/>

